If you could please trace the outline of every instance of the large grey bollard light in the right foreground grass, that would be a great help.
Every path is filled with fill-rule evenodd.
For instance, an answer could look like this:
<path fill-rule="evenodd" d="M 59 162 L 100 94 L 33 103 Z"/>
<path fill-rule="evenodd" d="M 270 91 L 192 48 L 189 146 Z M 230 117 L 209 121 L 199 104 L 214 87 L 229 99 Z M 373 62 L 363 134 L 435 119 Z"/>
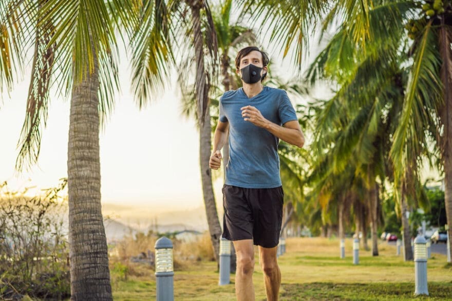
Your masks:
<path fill-rule="evenodd" d="M 427 289 L 427 242 L 418 235 L 415 239 L 415 295 L 428 295 Z"/>

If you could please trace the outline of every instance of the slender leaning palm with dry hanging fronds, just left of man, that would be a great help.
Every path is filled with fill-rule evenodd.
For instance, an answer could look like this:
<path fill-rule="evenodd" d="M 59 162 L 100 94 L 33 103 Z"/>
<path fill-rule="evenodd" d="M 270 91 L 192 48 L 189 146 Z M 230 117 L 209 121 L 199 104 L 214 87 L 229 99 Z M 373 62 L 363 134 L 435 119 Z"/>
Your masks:
<path fill-rule="evenodd" d="M 196 116 L 199 126 L 199 160 L 201 169 L 202 192 L 204 206 L 214 248 L 215 258 L 219 263 L 219 239 L 221 237 L 221 226 L 218 219 L 217 207 L 212 185 L 212 175 L 209 168 L 211 155 L 211 115 L 210 98 L 213 93 L 212 83 L 216 79 L 216 66 L 218 65 L 218 44 L 209 3 L 206 0 L 186 0 L 185 2 L 174 1 L 172 10 L 176 14 L 190 14 L 191 21 L 185 22 L 180 18 L 177 24 L 179 30 L 175 29 L 179 37 L 189 34 L 187 44 L 180 43 L 179 47 L 183 56 L 181 67 L 179 67 L 179 83 L 182 91 L 189 91 L 189 75 L 195 66 L 195 83 L 193 95 L 196 98 Z M 191 51 L 194 48 L 194 53 Z M 206 54 L 205 54 L 206 53 Z M 194 64 L 192 64 L 194 63 Z M 185 94 L 183 92 L 183 94 Z M 190 94 L 190 93 L 189 93 Z M 187 96 L 187 95 L 186 95 Z"/>

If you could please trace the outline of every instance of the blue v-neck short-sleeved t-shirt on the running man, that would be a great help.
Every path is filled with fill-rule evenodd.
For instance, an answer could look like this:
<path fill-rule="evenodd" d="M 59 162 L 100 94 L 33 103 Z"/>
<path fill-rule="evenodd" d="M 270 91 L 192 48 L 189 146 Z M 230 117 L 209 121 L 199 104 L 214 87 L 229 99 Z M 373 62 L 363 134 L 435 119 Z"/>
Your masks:
<path fill-rule="evenodd" d="M 257 108 L 263 117 L 277 125 L 297 120 L 286 91 L 270 87 L 248 98 L 243 88 L 220 97 L 220 121 L 229 122 L 229 163 L 225 184 L 244 188 L 281 186 L 278 137 L 244 121 L 240 108 Z"/>

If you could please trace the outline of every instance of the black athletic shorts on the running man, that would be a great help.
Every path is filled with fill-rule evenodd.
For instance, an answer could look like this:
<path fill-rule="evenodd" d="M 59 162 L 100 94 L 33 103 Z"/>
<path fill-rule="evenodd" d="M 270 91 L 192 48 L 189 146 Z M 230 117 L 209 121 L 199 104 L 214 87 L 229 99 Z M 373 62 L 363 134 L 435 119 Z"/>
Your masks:
<path fill-rule="evenodd" d="M 283 187 L 242 188 L 223 186 L 223 237 L 253 239 L 254 245 L 278 245 L 283 221 Z"/>

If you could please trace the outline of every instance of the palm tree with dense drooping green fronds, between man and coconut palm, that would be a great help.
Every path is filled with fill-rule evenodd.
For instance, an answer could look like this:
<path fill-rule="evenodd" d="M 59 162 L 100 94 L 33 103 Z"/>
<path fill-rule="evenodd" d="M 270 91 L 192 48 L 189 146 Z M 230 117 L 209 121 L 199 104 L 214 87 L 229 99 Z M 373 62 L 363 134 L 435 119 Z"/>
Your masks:
<path fill-rule="evenodd" d="M 338 86 L 329 101 L 313 104 L 321 108 L 317 112 L 313 149 L 331 156 L 329 163 L 324 164 L 328 166 L 325 175 L 331 173 L 343 177 L 346 167 L 355 166 L 352 173 L 365 180 L 373 255 L 378 255 L 379 188 L 376 179 L 378 177 L 380 183 L 384 183 L 386 177 L 387 141 L 394 127 L 391 125 L 394 118 L 389 117 L 397 113 L 397 99 L 400 98 L 392 81 L 400 72 L 397 61 L 387 57 L 382 59 L 372 49 L 364 54 L 357 52 L 352 37 L 345 26 L 341 26 L 307 73 L 311 83 L 330 79 Z M 374 72 L 377 66 L 384 66 L 384 69 Z M 317 171 L 314 173 L 318 174 Z M 350 186 L 352 182 L 349 183 Z"/>

